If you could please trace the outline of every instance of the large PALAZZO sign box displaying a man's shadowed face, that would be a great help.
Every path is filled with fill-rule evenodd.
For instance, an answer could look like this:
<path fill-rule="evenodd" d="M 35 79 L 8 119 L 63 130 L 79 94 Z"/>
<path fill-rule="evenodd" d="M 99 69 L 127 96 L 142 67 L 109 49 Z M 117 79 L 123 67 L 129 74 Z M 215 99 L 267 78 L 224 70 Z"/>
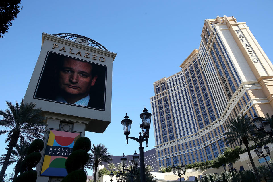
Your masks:
<path fill-rule="evenodd" d="M 103 133 L 111 122 L 116 54 L 78 40 L 43 33 L 24 101 L 36 103 L 47 118 L 88 123 L 86 131 Z"/>

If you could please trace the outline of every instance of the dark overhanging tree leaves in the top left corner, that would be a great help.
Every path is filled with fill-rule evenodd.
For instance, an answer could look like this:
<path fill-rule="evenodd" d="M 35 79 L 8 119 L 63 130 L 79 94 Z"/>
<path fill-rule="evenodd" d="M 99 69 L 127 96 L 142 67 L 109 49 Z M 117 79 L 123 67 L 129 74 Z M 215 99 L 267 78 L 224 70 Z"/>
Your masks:
<path fill-rule="evenodd" d="M 14 18 L 17 18 L 17 14 L 20 13 L 22 7 L 18 4 L 21 3 L 21 0 L 7 1 L 3 0 L 0 3 L 0 37 L 3 37 L 3 34 L 7 33 L 9 26 L 12 26 Z"/>

